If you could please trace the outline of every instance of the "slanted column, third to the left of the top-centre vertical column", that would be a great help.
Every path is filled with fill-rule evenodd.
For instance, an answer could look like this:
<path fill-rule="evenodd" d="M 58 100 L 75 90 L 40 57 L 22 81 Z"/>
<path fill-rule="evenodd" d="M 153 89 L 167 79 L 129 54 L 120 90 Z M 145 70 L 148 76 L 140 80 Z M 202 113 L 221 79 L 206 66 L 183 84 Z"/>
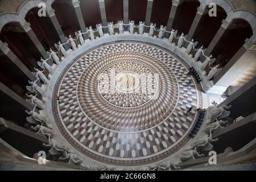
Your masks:
<path fill-rule="evenodd" d="M 47 14 L 48 14 L 49 18 L 51 19 L 51 22 L 52 22 L 53 26 L 55 27 L 57 34 L 59 35 L 60 42 L 61 43 L 67 42 L 67 40 L 65 39 L 65 35 L 64 35 L 63 31 L 61 30 L 60 23 L 57 20 L 57 17 L 55 15 L 55 10 L 50 9 L 47 11 Z M 67 44 L 65 44 L 64 47 L 67 50 L 69 49 L 69 46 Z"/>

